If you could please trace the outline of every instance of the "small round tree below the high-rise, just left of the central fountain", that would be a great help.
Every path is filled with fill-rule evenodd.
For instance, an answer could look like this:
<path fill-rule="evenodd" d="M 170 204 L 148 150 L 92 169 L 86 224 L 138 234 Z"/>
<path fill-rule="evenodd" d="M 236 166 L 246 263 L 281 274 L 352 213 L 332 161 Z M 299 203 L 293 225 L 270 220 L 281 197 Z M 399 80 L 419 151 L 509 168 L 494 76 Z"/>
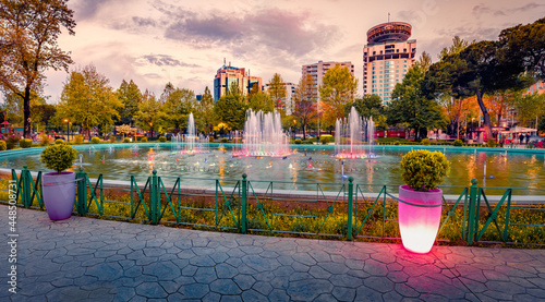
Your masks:
<path fill-rule="evenodd" d="M 233 86 L 233 85 L 231 85 Z M 242 130 L 246 119 L 247 105 L 235 94 L 227 94 L 218 99 L 214 107 L 218 122 L 225 123 L 228 129 Z"/>

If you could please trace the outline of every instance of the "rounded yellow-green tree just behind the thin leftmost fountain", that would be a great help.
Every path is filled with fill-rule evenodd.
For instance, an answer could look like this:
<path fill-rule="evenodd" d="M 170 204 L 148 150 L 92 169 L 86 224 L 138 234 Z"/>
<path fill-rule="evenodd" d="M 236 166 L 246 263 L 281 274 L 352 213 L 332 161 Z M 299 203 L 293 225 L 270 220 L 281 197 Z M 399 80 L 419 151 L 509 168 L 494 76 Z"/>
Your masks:
<path fill-rule="evenodd" d="M 168 95 L 161 108 L 165 113 L 164 125 L 174 133 L 185 133 L 187 118 L 190 113 L 197 112 L 197 107 L 193 90 L 175 88 Z"/>

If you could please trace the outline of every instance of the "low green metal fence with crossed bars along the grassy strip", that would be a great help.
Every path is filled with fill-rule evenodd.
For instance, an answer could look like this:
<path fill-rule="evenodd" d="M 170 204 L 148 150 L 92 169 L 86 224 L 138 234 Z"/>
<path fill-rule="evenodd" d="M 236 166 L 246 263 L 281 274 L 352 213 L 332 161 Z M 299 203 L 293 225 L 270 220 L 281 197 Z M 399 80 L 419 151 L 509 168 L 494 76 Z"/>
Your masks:
<path fill-rule="evenodd" d="M 19 174 L 15 170 L 11 171 L 21 206 L 44 209 L 41 174 L 37 172 L 33 177 L 26 167 Z M 166 179 L 169 182 L 166 183 Z M 193 180 L 160 177 L 153 171 L 144 182 L 138 183 L 131 176 L 130 185 L 111 185 L 105 184 L 102 174 L 92 181 L 81 170 L 76 173 L 75 213 L 241 233 L 329 235 L 346 240 L 399 239 L 396 206 L 403 201 L 392 194 L 395 185 L 354 183 L 350 177 L 342 183 L 327 183 L 329 188 L 336 188 L 334 191 L 325 192 L 323 183 L 314 183 L 314 193 L 296 190 L 287 193 L 275 191 L 275 184 L 280 182 L 254 181 L 243 174 L 242 179 L 230 182 L 207 179 L 210 185 L 199 192 L 191 188 L 182 189 L 183 183 Z M 2 184 L 2 188 L 5 191 L 7 185 Z M 468 188 L 457 189 L 460 194 L 456 201 L 444 201 L 439 241 L 458 240 L 467 245 L 545 242 L 545 225 L 542 224 L 545 221 L 544 205 L 513 205 L 512 192 L 530 189 L 477 186 L 476 180 L 472 180 Z M 504 193 L 499 201 L 492 203 L 487 190 L 501 190 Z M 537 191 L 545 194 L 545 190 Z M 112 192 L 118 195 L 111 195 Z"/>

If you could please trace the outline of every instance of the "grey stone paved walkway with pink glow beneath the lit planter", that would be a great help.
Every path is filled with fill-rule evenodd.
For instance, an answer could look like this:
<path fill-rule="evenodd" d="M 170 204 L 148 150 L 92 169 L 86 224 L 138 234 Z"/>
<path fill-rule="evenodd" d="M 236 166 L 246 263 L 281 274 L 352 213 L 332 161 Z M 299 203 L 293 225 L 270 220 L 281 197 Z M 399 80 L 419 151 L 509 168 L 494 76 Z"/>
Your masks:
<path fill-rule="evenodd" d="M 8 207 L 0 206 L 4 242 Z M 538 301 L 545 251 L 242 235 L 19 209 L 17 287 L 1 301 Z"/>

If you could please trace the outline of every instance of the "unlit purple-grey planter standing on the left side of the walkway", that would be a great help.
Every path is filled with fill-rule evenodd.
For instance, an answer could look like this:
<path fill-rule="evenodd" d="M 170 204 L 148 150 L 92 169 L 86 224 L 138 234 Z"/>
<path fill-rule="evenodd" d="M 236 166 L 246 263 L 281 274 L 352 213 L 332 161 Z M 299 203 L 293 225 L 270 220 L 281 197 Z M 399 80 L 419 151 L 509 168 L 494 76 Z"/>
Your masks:
<path fill-rule="evenodd" d="M 74 172 L 45 173 L 41 176 L 41 194 L 47 215 L 51 220 L 72 216 L 75 201 Z"/>

